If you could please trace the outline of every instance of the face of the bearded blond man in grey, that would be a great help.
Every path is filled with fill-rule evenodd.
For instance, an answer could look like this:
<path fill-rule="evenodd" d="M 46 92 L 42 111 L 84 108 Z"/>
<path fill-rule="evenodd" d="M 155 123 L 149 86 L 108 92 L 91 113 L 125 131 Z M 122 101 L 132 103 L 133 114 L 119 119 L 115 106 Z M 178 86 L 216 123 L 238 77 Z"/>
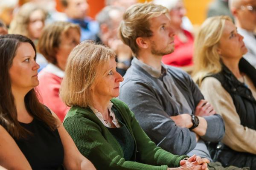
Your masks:
<path fill-rule="evenodd" d="M 170 20 L 162 14 L 159 17 L 151 18 L 150 29 L 153 36 L 149 37 L 149 48 L 151 54 L 163 56 L 174 51 L 174 31 L 171 28 Z"/>

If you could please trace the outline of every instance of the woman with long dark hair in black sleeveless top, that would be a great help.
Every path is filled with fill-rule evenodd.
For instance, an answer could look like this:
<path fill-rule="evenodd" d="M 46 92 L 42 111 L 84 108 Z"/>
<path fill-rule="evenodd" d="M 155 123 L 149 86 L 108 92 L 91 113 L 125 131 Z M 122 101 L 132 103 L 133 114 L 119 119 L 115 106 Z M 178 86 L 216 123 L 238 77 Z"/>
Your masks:
<path fill-rule="evenodd" d="M 95 170 L 57 116 L 38 102 L 34 88 L 39 65 L 33 42 L 22 35 L 0 36 L 0 56 L 0 165 Z"/>

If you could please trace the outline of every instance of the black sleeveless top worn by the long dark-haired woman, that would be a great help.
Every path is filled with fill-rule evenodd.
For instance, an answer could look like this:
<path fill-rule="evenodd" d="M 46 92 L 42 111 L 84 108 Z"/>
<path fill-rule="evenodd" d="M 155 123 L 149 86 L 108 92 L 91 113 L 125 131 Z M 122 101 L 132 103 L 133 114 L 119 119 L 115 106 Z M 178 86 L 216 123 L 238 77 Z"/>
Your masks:
<path fill-rule="evenodd" d="M 27 139 L 14 139 L 33 170 L 61 170 L 64 148 L 58 130 L 34 118 L 31 123 L 20 125 L 32 132 Z"/>

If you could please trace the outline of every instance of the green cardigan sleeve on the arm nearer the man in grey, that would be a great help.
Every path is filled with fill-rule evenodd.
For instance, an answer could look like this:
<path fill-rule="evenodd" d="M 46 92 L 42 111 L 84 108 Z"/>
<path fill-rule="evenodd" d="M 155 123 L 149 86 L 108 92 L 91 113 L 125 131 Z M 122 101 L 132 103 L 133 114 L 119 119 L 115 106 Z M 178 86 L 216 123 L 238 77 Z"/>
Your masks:
<path fill-rule="evenodd" d="M 139 151 L 139 154 L 136 155 L 140 156 L 138 159 L 146 164 L 166 164 L 168 167 L 180 167 L 180 160 L 188 156 L 173 155 L 172 153 L 161 149 L 161 147 L 157 147 L 140 127 L 139 123 L 135 119 L 134 113 L 126 104 L 125 108 L 131 115 L 131 128 L 136 139 L 137 150 Z"/>

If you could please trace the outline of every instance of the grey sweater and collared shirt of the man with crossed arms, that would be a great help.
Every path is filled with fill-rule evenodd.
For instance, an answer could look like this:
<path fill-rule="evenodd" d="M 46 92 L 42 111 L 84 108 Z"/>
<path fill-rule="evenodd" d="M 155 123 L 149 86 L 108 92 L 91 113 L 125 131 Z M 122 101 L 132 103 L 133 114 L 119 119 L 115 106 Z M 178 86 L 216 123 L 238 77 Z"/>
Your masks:
<path fill-rule="evenodd" d="M 210 159 L 204 141 L 219 142 L 224 136 L 224 122 L 219 115 L 205 117 L 207 132 L 198 142 L 194 132 L 178 127 L 170 118 L 193 114 L 204 99 L 191 77 L 178 68 L 162 64 L 160 72 L 134 58 L 120 85 L 119 99 L 134 112 L 151 140 L 173 154 L 195 153 Z"/>

